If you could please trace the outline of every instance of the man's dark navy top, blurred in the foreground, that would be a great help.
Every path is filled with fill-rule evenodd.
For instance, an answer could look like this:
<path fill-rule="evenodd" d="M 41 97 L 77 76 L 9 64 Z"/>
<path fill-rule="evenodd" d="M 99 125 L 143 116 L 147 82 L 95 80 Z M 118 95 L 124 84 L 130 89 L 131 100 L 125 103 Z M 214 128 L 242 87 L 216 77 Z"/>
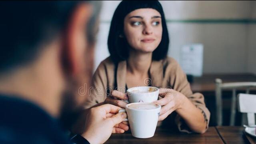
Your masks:
<path fill-rule="evenodd" d="M 89 144 L 79 135 L 71 141 L 58 120 L 42 108 L 16 96 L 0 94 L 0 144 Z"/>

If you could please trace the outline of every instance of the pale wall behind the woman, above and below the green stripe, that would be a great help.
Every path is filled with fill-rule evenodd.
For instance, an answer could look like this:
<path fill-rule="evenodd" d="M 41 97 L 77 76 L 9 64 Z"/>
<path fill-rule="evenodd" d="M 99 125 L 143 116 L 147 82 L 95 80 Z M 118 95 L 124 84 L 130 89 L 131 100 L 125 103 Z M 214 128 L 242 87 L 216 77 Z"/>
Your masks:
<path fill-rule="evenodd" d="M 120 1 L 103 1 L 100 32 L 96 46 L 95 66 L 109 56 L 107 38 L 110 21 Z M 160 1 L 167 20 L 248 19 L 256 16 L 252 1 Z M 254 12 L 252 10 L 254 9 Z M 170 47 L 168 55 L 180 61 L 185 44 L 204 44 L 204 73 L 256 72 L 255 25 L 245 23 L 179 23 L 168 22 Z M 249 31 L 253 31 L 250 32 Z M 250 35 L 250 36 L 248 36 Z M 249 40 L 250 39 L 250 40 Z M 250 43 L 250 44 L 249 44 Z M 250 67 L 250 68 L 249 68 Z"/>

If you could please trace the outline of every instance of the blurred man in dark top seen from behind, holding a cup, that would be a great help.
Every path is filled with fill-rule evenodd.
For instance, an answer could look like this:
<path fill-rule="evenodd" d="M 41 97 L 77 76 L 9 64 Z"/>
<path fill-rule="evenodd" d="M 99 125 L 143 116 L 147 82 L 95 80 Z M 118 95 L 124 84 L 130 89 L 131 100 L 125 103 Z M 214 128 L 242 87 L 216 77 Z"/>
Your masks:
<path fill-rule="evenodd" d="M 67 144 L 90 87 L 99 2 L 0 2 L 0 144 Z M 92 108 L 72 142 L 122 133 L 120 108 Z M 59 120 L 60 124 L 59 125 Z"/>

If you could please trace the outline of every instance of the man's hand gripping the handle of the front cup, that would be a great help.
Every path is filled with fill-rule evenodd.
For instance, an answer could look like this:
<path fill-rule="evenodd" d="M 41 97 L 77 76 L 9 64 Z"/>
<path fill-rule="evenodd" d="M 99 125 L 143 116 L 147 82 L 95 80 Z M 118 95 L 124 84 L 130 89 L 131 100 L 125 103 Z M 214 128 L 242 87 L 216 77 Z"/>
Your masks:
<path fill-rule="evenodd" d="M 124 133 L 128 126 L 122 121 L 127 115 L 125 112 L 118 113 L 120 109 L 111 104 L 91 108 L 86 118 L 86 131 L 82 136 L 91 144 L 102 144 L 108 140 L 111 133 Z"/>

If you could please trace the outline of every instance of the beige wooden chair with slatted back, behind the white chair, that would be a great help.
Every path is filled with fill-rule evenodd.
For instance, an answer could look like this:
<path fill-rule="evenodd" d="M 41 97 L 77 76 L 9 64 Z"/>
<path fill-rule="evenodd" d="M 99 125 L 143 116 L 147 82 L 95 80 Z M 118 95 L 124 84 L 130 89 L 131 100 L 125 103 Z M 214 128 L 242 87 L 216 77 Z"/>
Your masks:
<path fill-rule="evenodd" d="M 217 116 L 217 125 L 222 126 L 222 90 L 232 89 L 232 100 L 230 108 L 230 126 L 235 124 L 236 116 L 236 89 L 237 88 L 246 88 L 246 94 L 249 94 L 250 88 L 256 87 L 256 82 L 230 82 L 222 83 L 222 80 L 216 78 L 215 80 L 215 98 L 216 98 L 216 116 Z M 244 121 L 244 117 L 242 121 Z"/>

